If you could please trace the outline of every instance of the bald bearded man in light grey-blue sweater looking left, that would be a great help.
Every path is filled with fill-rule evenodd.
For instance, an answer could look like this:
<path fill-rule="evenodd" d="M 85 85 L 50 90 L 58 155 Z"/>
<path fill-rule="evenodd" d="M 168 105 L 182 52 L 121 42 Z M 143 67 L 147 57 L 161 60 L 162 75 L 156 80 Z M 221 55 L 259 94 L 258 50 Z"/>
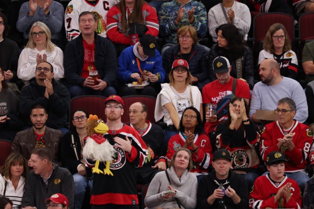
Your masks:
<path fill-rule="evenodd" d="M 253 89 L 250 118 L 254 122 L 263 122 L 256 118 L 256 110 L 274 110 L 277 102 L 289 97 L 296 103 L 296 114 L 294 119 L 304 122 L 308 116 L 305 93 L 300 83 L 294 79 L 283 77 L 276 60 L 263 60 L 259 66 L 261 81 L 256 83 Z"/>

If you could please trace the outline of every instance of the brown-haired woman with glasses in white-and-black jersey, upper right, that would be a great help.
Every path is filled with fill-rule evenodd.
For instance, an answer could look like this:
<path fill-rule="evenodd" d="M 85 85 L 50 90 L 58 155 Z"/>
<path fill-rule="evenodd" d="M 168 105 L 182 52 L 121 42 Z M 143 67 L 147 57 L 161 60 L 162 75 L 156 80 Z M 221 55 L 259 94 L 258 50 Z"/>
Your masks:
<path fill-rule="evenodd" d="M 291 50 L 288 32 L 281 23 L 274 23 L 269 27 L 263 50 L 259 53 L 258 66 L 264 59 L 269 58 L 277 60 L 282 76 L 296 79 L 299 70 L 298 58 Z"/>

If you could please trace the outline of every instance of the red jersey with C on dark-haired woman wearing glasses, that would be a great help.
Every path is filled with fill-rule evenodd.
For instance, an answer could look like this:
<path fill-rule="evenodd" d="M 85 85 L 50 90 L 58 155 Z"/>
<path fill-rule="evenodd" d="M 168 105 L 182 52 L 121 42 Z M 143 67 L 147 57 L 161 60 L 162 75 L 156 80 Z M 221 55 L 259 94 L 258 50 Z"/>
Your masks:
<path fill-rule="evenodd" d="M 166 154 L 167 160 L 171 160 L 177 149 L 183 147 L 185 143 L 185 138 L 180 132 L 179 134 L 170 138 L 168 142 L 168 151 Z M 205 134 L 196 134 L 194 138 L 195 146 L 199 147 L 199 151 L 192 155 L 193 159 L 193 169 L 190 171 L 192 173 L 208 173 L 208 167 L 212 162 L 213 151 L 209 138 Z M 190 146 L 189 150 L 193 150 Z"/>

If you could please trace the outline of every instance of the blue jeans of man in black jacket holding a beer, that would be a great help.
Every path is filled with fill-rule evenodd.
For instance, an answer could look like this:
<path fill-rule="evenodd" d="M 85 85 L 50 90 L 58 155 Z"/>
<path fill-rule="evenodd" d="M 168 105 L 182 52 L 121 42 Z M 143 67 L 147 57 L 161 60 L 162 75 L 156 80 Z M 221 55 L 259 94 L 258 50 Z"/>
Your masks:
<path fill-rule="evenodd" d="M 108 86 L 102 91 L 96 91 L 89 87 L 71 86 L 68 88 L 71 98 L 82 95 L 99 95 L 109 97 L 110 95 L 116 95 L 116 91 L 112 86 Z"/>

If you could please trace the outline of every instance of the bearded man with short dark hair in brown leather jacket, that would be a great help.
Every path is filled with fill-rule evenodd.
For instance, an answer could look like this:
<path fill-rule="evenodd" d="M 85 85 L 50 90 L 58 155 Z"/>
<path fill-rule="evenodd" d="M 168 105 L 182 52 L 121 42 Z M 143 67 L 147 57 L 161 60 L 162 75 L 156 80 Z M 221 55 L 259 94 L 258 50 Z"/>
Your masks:
<path fill-rule="evenodd" d="M 19 152 L 25 159 L 29 159 L 33 149 L 46 147 L 51 152 L 52 159 L 58 162 L 60 159 L 58 150 L 62 133 L 46 126 L 48 114 L 45 107 L 40 104 L 36 104 L 31 108 L 29 117 L 33 127 L 16 134 L 12 151 Z M 30 162 L 28 162 L 28 165 L 30 165 Z"/>

